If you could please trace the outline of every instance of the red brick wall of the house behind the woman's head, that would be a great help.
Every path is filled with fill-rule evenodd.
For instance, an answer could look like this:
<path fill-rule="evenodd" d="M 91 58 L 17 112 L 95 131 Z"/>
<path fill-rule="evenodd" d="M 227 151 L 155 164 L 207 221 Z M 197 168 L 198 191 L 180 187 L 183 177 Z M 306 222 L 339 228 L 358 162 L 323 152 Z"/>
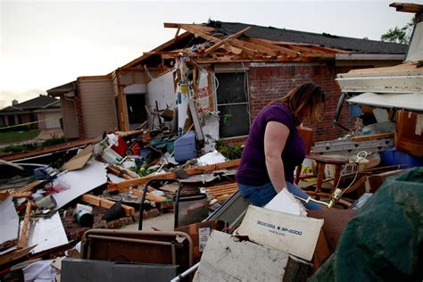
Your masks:
<path fill-rule="evenodd" d="M 362 68 L 362 67 L 361 67 Z M 348 68 L 336 68 L 333 65 L 310 63 L 290 63 L 278 66 L 253 66 L 248 72 L 248 83 L 250 92 L 250 113 L 253 117 L 263 106 L 270 103 L 305 82 L 319 84 L 327 93 L 326 112 L 323 119 L 313 124 L 304 124 L 314 130 L 313 141 L 324 141 L 336 139 L 343 136 L 346 131 L 334 127 L 336 105 L 341 91 L 336 84 L 336 73 L 347 72 Z M 347 128 L 352 128 L 354 119 L 349 116 L 349 109 L 344 104 L 339 122 Z"/>

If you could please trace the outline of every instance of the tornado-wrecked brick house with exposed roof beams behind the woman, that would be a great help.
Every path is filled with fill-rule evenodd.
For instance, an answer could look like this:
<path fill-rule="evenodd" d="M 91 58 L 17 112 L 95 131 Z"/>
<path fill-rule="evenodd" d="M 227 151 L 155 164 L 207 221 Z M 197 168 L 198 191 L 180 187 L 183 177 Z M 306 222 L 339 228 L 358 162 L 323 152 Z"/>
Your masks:
<path fill-rule="evenodd" d="M 219 128 L 213 138 L 236 139 L 248 134 L 264 105 L 314 81 L 325 89 L 328 100 L 324 119 L 312 125 L 315 141 L 333 139 L 343 133 L 332 126 L 340 95 L 336 74 L 393 66 L 407 51 L 400 44 L 245 23 L 165 23 L 165 27 L 187 32 L 177 31 L 170 41 L 106 76 L 79 78 L 71 88 L 68 84 L 47 91 L 61 98 L 62 108 L 65 101 L 73 103 L 71 112 L 63 110 L 65 135 L 67 127 L 72 137 L 95 137 L 113 127 L 133 129 L 145 119 L 153 123 L 155 112 L 168 107 L 185 112 L 187 105 L 179 98 L 187 87 L 187 95 L 203 112 L 203 126 Z M 207 121 L 204 112 L 219 112 L 220 121 Z M 178 122 L 179 129 L 183 121 Z M 353 120 L 343 112 L 341 121 Z"/>

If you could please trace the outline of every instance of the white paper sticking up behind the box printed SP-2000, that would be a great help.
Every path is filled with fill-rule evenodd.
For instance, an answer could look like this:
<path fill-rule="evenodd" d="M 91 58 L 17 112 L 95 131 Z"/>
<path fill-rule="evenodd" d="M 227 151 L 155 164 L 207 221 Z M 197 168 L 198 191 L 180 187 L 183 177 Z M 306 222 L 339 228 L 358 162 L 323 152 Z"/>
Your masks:
<path fill-rule="evenodd" d="M 286 189 L 280 191 L 264 208 L 304 217 L 307 216 L 307 211 L 305 211 L 303 204 L 295 199 L 294 195 Z"/>

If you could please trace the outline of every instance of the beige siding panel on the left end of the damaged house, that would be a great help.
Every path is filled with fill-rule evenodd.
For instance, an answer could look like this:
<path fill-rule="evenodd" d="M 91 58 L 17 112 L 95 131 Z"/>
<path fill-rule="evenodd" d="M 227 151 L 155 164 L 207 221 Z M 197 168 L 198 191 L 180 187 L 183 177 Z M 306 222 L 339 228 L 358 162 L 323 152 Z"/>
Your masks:
<path fill-rule="evenodd" d="M 86 137 L 98 137 L 118 127 L 112 80 L 79 80 Z"/>

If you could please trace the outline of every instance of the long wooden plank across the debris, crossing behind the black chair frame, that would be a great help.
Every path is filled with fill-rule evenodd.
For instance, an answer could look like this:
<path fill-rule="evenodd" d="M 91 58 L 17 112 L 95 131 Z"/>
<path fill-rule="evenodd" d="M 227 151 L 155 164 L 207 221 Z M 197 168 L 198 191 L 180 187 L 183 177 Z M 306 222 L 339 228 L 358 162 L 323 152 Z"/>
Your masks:
<path fill-rule="evenodd" d="M 207 171 L 213 171 L 213 170 L 225 170 L 229 168 L 235 168 L 239 165 L 239 159 L 234 161 L 228 161 L 228 162 L 220 162 L 216 164 L 209 164 L 204 165 L 201 167 L 195 167 L 191 169 L 185 170 L 187 175 L 196 175 L 196 174 L 202 174 L 203 172 Z M 108 188 L 115 188 L 120 189 L 123 187 L 137 187 L 139 185 L 145 185 L 149 180 L 151 179 L 161 179 L 161 178 L 178 178 L 178 175 L 175 172 L 166 172 L 156 175 L 148 175 L 144 178 L 136 178 L 136 179 L 130 179 L 127 181 L 122 181 L 120 183 L 113 183 L 108 186 Z"/>

